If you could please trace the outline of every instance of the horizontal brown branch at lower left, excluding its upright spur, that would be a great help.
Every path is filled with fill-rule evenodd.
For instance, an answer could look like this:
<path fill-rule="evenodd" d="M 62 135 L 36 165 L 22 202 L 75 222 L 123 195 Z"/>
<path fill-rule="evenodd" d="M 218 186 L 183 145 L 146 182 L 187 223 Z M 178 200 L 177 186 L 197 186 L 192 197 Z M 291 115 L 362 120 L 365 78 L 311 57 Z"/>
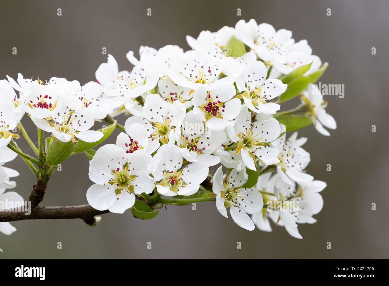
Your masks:
<path fill-rule="evenodd" d="M 109 212 L 98 211 L 90 205 L 75 205 L 71 207 L 36 207 L 31 214 L 21 211 L 1 211 L 0 222 L 20 221 L 25 219 L 75 219 L 81 218 L 88 225 L 95 225 L 95 216 Z"/>

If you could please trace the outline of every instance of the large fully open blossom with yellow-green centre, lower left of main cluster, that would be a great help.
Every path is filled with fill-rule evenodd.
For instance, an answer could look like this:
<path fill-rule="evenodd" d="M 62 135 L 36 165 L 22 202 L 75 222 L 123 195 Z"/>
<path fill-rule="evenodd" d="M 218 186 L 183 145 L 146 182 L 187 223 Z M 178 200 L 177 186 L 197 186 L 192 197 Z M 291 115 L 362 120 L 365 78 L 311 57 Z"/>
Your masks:
<path fill-rule="evenodd" d="M 135 195 L 154 189 L 150 164 L 147 152 L 126 153 L 115 144 L 100 147 L 89 162 L 89 179 L 95 184 L 86 192 L 88 203 L 100 211 L 122 214 L 134 205 Z"/>

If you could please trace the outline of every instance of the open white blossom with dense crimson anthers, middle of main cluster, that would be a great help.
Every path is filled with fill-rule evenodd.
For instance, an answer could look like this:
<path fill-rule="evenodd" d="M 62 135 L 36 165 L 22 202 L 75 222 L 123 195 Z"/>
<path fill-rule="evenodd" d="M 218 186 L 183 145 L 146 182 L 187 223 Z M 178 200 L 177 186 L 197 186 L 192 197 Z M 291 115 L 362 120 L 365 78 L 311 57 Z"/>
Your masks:
<path fill-rule="evenodd" d="M 192 98 L 193 112 L 205 121 L 211 130 L 224 130 L 240 112 L 241 103 L 235 96 L 235 87 L 228 82 L 218 82 L 207 91 L 201 86 Z"/>

